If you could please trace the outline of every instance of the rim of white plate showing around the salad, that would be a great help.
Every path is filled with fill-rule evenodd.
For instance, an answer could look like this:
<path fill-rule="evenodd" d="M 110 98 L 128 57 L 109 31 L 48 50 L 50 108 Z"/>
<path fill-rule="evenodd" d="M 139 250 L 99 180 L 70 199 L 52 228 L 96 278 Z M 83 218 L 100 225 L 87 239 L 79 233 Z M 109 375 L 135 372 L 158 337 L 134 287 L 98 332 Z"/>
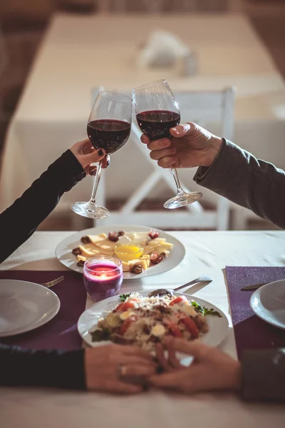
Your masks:
<path fill-rule="evenodd" d="M 147 296 L 149 291 L 138 291 L 138 293 L 140 293 L 142 296 Z M 197 303 L 199 303 L 199 305 L 208 308 L 212 307 L 214 310 L 217 310 L 222 315 L 222 317 L 216 317 L 213 315 L 207 316 L 209 332 L 200 337 L 199 342 L 205 343 L 209 346 L 218 346 L 220 343 L 222 343 L 229 330 L 229 321 L 227 320 L 227 316 L 224 314 L 224 312 L 222 312 L 222 310 L 220 310 L 217 306 L 212 305 L 212 303 L 207 302 L 207 300 L 202 300 L 198 297 L 180 292 L 175 292 L 174 295 L 185 295 L 188 300 L 195 300 Z M 91 347 L 98 347 L 111 343 L 110 341 L 92 342 L 90 331 L 96 330 L 98 319 L 108 315 L 108 312 L 112 311 L 119 302 L 120 297 L 118 295 L 114 297 L 108 297 L 108 299 L 94 303 L 94 305 L 81 314 L 81 317 L 79 317 L 77 323 L 78 332 L 83 340 L 88 343 L 88 345 Z"/>

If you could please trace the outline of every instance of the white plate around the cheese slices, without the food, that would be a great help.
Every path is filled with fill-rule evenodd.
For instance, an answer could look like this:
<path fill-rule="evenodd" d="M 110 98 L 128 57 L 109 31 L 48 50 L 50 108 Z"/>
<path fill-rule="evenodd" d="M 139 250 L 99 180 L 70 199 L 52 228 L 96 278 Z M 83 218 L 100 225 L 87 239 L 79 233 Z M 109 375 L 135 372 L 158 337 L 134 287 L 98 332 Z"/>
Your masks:
<path fill-rule="evenodd" d="M 69 267 L 69 269 L 82 273 L 83 267 L 78 267 L 76 256 L 72 254 L 72 250 L 73 248 L 78 247 L 78 245 L 81 243 L 81 238 L 83 236 L 99 235 L 100 233 L 108 234 L 111 230 L 125 230 L 125 232 L 147 232 L 150 229 L 151 228 L 147 228 L 146 226 L 108 225 L 99 226 L 98 228 L 81 230 L 81 232 L 68 236 L 68 238 L 62 240 L 61 243 L 58 244 L 58 246 L 56 247 L 56 257 L 63 265 Z M 179 265 L 185 258 L 185 247 L 182 243 L 180 243 L 179 240 L 174 238 L 172 235 L 163 232 L 163 230 L 155 230 L 160 233 L 160 238 L 165 238 L 168 243 L 173 244 L 173 248 L 170 252 L 170 255 L 165 260 L 162 260 L 162 262 L 150 267 L 147 270 L 144 270 L 138 275 L 136 275 L 135 273 L 124 272 L 124 280 L 140 279 L 142 277 L 167 272 L 167 270 L 171 270 L 177 265 Z"/>

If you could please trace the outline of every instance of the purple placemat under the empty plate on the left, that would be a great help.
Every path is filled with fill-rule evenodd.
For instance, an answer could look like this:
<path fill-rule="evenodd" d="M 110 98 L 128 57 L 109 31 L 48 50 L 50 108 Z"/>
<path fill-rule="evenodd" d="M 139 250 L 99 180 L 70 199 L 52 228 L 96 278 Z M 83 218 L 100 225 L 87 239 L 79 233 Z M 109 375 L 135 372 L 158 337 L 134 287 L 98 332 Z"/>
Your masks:
<path fill-rule="evenodd" d="M 82 339 L 77 331 L 78 318 L 86 308 L 86 290 L 81 274 L 66 270 L 0 270 L 0 279 L 24 280 L 38 284 L 54 280 L 61 275 L 64 280 L 51 288 L 61 300 L 58 314 L 36 330 L 1 338 L 2 343 L 36 350 L 74 350 L 82 347 Z"/>

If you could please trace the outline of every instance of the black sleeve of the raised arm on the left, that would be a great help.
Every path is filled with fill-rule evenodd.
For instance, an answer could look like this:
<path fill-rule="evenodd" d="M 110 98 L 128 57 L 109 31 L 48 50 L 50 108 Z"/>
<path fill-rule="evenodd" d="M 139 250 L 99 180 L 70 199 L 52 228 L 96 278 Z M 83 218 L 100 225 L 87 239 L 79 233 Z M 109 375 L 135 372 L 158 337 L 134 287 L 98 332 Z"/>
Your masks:
<path fill-rule="evenodd" d="M 11 255 L 51 213 L 63 193 L 86 176 L 81 164 L 68 150 L 34 181 L 21 198 L 0 214 L 0 263 Z"/>

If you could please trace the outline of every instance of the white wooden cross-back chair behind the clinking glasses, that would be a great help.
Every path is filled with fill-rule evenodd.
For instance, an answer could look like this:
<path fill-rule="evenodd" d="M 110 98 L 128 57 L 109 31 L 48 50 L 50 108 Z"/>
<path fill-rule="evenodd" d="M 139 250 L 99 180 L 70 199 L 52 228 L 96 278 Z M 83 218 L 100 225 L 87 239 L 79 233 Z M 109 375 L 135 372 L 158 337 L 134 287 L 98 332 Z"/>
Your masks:
<path fill-rule="evenodd" d="M 120 92 L 120 90 L 116 90 Z M 97 95 L 97 91 L 93 92 L 93 100 Z M 130 95 L 130 93 L 126 93 Z M 221 135 L 225 138 L 232 139 L 234 127 L 234 90 L 233 88 L 224 89 L 224 91 L 197 91 L 197 92 L 175 92 L 175 98 L 180 105 L 182 123 L 187 121 L 195 121 L 201 126 L 206 127 L 208 123 L 221 124 Z M 199 201 L 187 205 L 186 210 L 175 210 L 173 217 L 172 210 L 156 210 L 142 211 L 136 210 L 138 205 L 150 194 L 160 180 L 167 183 L 176 194 L 175 181 L 170 173 L 170 170 L 163 169 L 157 166 L 157 163 L 152 161 L 145 146 L 140 142 L 141 131 L 135 121 L 132 124 L 132 133 L 130 138 L 136 144 L 140 151 L 140 156 L 145 158 L 145 161 L 151 163 L 153 172 L 147 175 L 142 181 L 139 188 L 136 188 L 132 195 L 125 201 L 122 208 L 118 211 L 112 211 L 110 218 L 105 219 L 106 223 L 120 224 L 140 224 L 150 225 L 160 228 L 173 228 L 175 224 L 179 228 L 202 228 L 202 229 L 217 229 L 227 230 L 229 227 L 229 200 L 222 196 L 216 195 L 215 210 L 204 210 Z M 143 170 L 142 170 L 143 175 Z M 184 183 L 182 187 L 187 189 Z M 98 203 L 105 203 L 105 189 L 103 183 L 100 183 L 100 199 Z"/>

